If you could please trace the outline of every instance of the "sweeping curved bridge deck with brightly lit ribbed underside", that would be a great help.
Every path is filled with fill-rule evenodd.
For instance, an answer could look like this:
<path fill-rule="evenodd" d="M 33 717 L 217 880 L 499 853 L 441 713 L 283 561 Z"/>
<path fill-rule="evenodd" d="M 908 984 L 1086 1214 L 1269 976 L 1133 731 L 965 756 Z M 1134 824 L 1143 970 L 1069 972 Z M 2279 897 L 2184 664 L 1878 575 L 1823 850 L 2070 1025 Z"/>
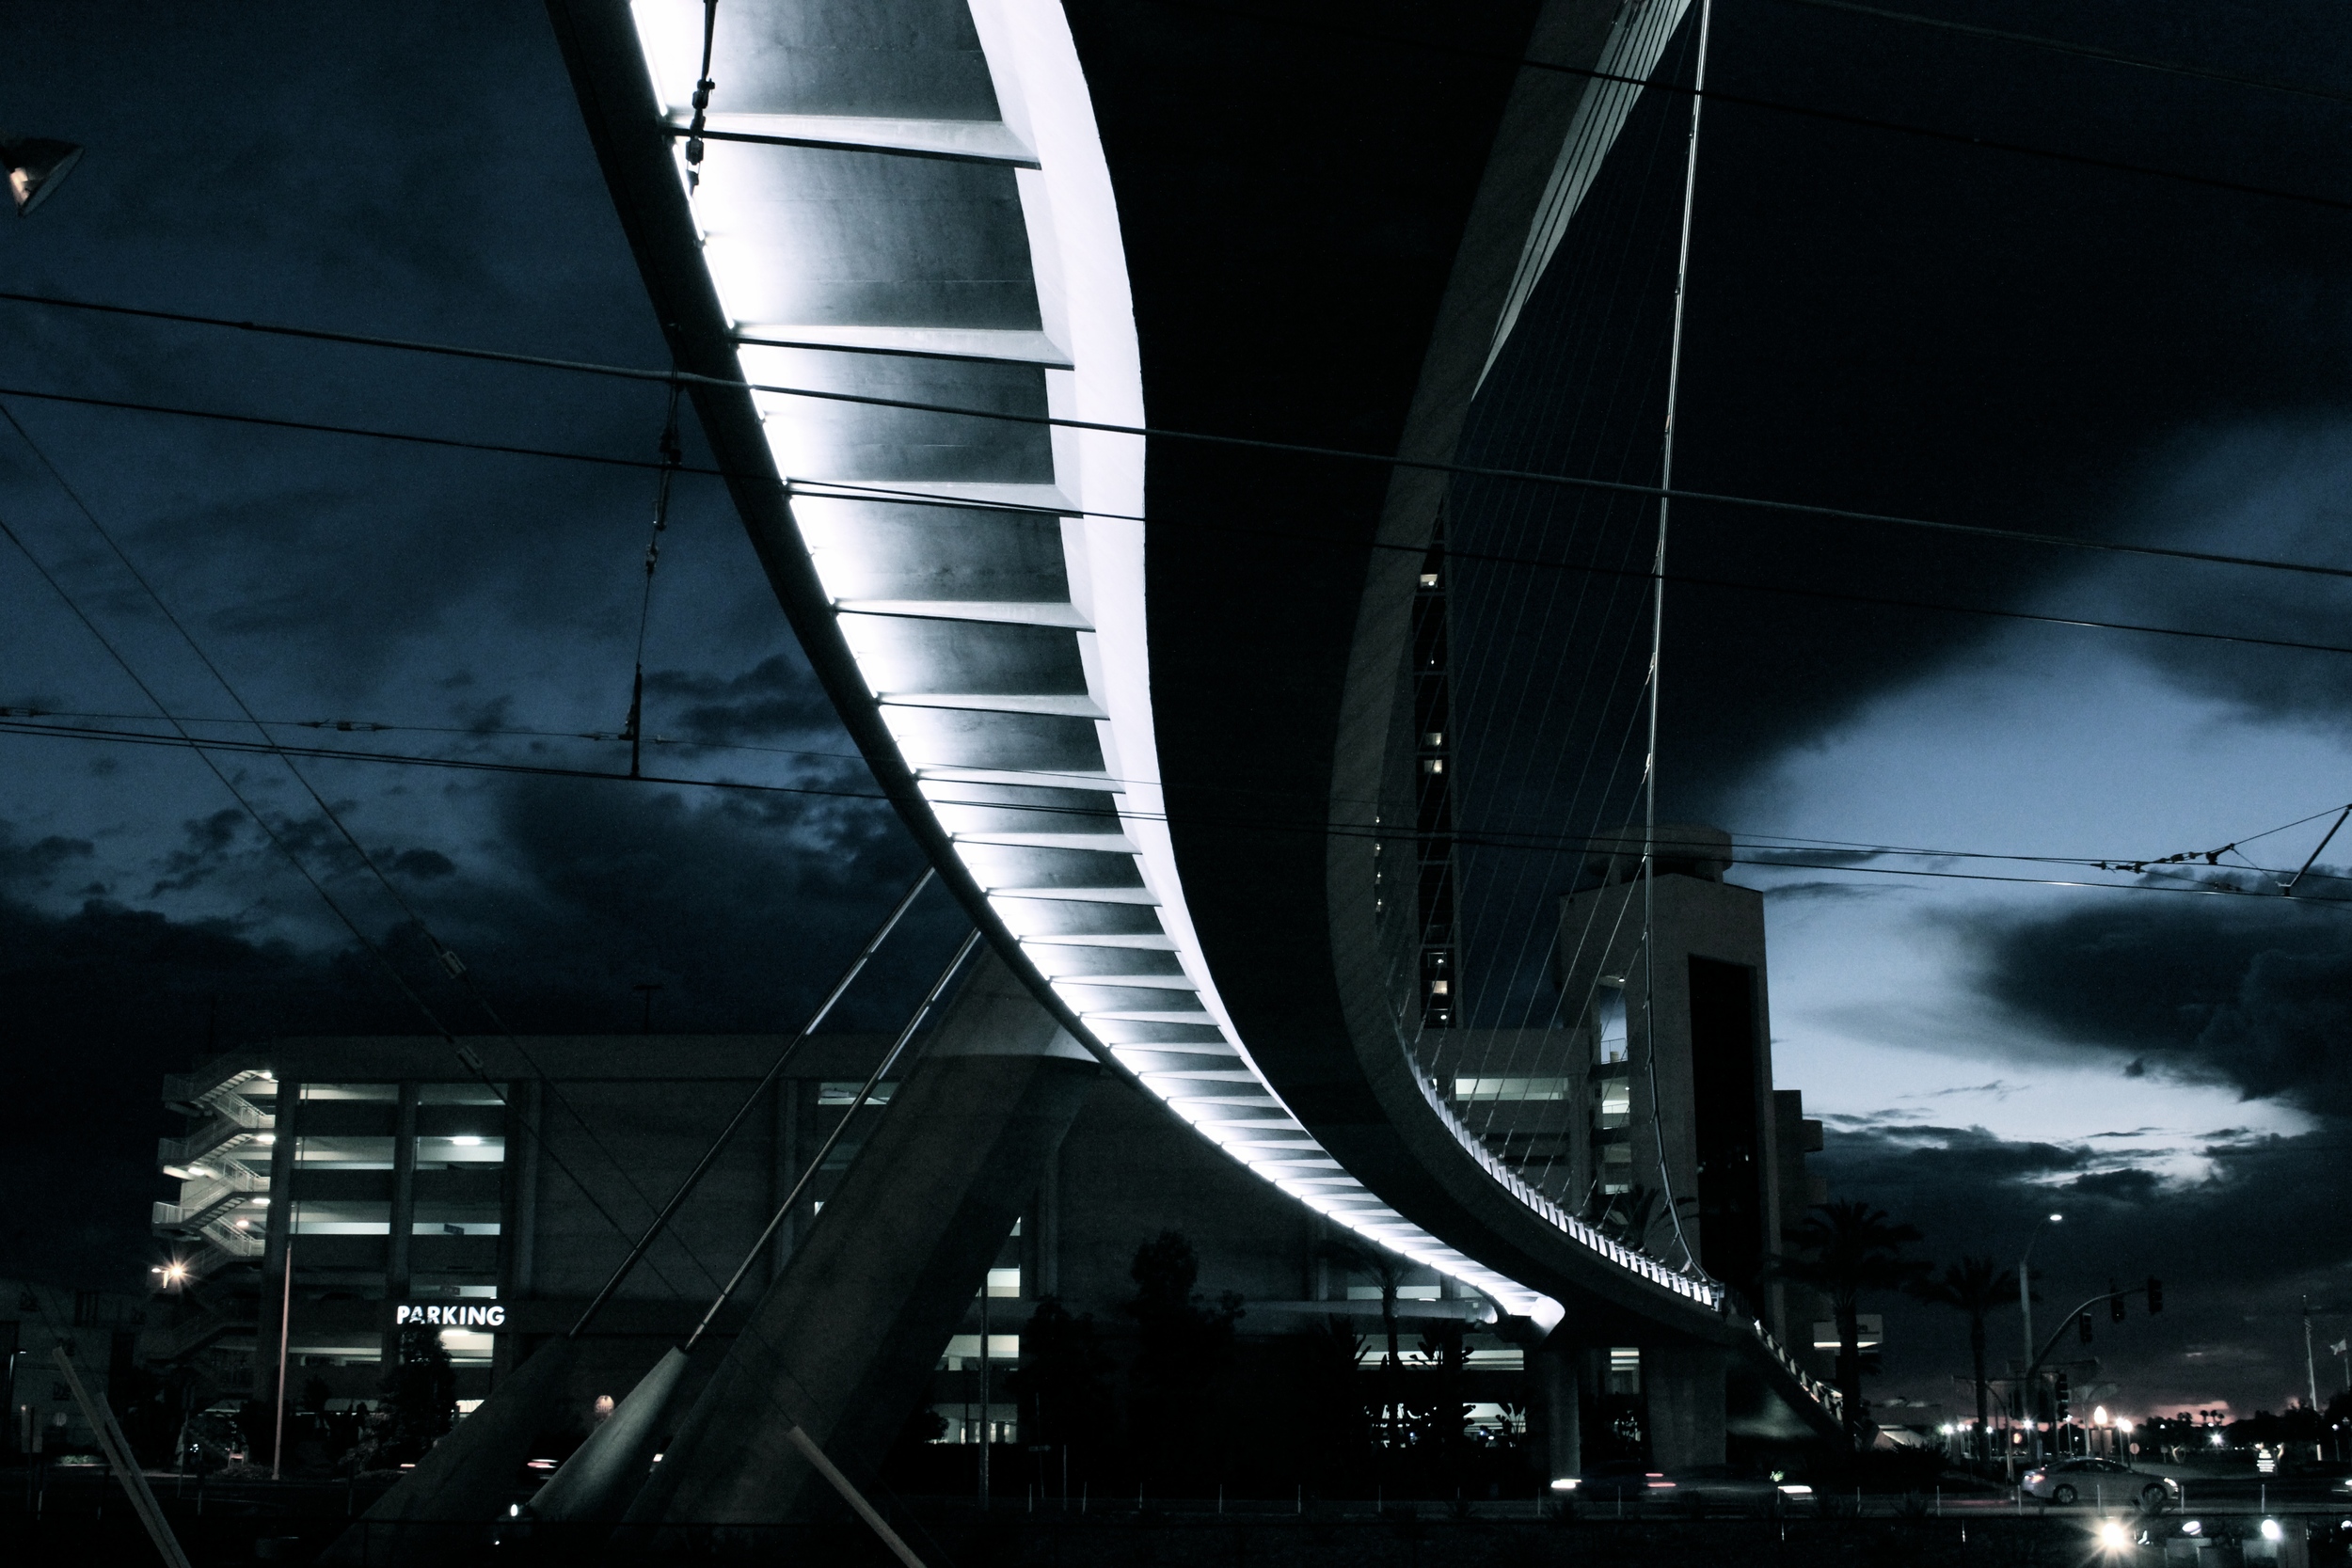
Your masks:
<path fill-rule="evenodd" d="M 722 0 L 689 169 L 699 0 L 553 5 L 680 364 L 748 383 L 696 407 L 779 599 L 1016 973 L 1235 1159 L 1505 1312 L 1736 1342 L 1715 1286 L 1522 1190 L 1338 997 L 1378 966 L 1327 907 L 1341 705 L 1411 597 L 1364 543 L 1428 538 L 1428 475 L 757 390 L 1446 458 L 1630 103 L 1508 61 L 1646 73 L 1682 0 L 1616 9 Z M 1383 28 L 1461 47 L 1352 35 Z M 1282 820 L 1310 830 L 1261 842 Z"/>

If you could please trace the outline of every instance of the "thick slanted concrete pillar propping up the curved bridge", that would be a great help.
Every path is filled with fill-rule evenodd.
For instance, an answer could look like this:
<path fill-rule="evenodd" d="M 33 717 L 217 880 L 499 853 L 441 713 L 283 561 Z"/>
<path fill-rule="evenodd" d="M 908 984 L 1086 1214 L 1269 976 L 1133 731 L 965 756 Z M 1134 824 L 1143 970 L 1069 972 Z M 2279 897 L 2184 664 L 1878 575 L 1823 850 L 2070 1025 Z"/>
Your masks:
<path fill-rule="evenodd" d="M 774 1523 L 866 1483 L 1101 1065 L 988 954 L 680 1422 L 630 1523 Z M 870 1112 L 868 1112 L 870 1114 Z M 748 1544 L 767 1537 L 746 1535 Z"/>

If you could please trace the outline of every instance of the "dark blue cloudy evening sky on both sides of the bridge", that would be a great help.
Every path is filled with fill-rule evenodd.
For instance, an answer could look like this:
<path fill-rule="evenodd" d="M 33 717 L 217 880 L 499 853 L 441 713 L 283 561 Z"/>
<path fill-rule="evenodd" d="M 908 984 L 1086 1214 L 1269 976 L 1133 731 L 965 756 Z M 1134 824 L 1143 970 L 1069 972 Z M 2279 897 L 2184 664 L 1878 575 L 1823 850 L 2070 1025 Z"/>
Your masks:
<path fill-rule="evenodd" d="M 2060 26 L 2025 5 L 1922 9 Z M 2352 45 L 2319 5 L 2086 2 L 2063 26 L 2352 94 Z M 661 362 L 536 7 L 75 5 L 12 28 L 9 129 L 92 153 L 42 212 L 0 223 L 7 289 Z M 1724 0 L 1710 80 L 1684 484 L 2352 564 L 2347 101 L 1802 0 Z M 1475 456 L 1656 473 L 1684 108 L 1653 94 L 1628 125 L 1496 367 Z M 49 729 L 151 712 L 87 616 L 174 712 L 235 717 L 103 527 L 278 741 L 550 769 L 299 764 L 395 900 L 285 764 L 219 757 L 407 973 L 426 976 L 400 903 L 520 1030 L 633 1027 L 640 983 L 663 987 L 670 1027 L 786 1027 L 917 870 L 861 797 L 724 496 L 691 473 L 647 628 L 647 729 L 666 738 L 647 769 L 760 788 L 562 773 L 626 766 L 581 736 L 628 710 L 656 388 L 12 301 L 0 388 L 21 425 L 0 423 L 0 522 L 24 541 L 0 541 L 0 703 Z M 691 418 L 684 447 L 703 461 Z M 1646 646 L 1639 592 L 1609 571 L 1646 562 L 1646 527 L 1592 498 L 1456 491 L 1463 548 L 1552 562 L 1458 581 L 1463 741 L 1479 748 L 1484 722 L 1489 755 L 1522 759 L 1486 769 L 1472 816 L 1583 832 L 1625 809 L 1613 748 Z M 2343 588 L 1736 508 L 1686 505 L 1675 527 L 1691 581 L 1668 616 L 1663 809 L 1802 863 L 1736 877 L 1769 889 L 1778 1077 L 1830 1121 L 1839 1192 L 1919 1225 L 1940 1260 L 2013 1255 L 2063 1208 L 2037 1253 L 2042 1321 L 2110 1276 L 2171 1281 L 2164 1319 L 2100 1321 L 2119 1406 L 2284 1403 L 2298 1298 L 2352 1307 L 2333 1201 L 2352 910 L 2321 907 L 2352 889 L 2314 877 L 2317 898 L 2288 903 L 2249 863 L 2293 870 L 2352 799 L 2352 656 L 1966 611 L 2352 644 Z M 0 724 L 0 1180 L 35 1194 L 0 1267 L 99 1279 L 146 1260 L 148 1140 L 169 1131 L 155 1074 L 207 1041 L 416 1020 L 198 757 Z M 2079 865 L 2223 844 L 2244 856 Z M 1952 853 L 1820 853 L 1867 846 Z M 2352 835 L 2321 872 L 2345 865 Z M 1486 954 L 1524 950 L 1564 875 L 1472 860 Z M 2251 893 L 2209 891 L 2225 879 Z M 953 936 L 936 912 L 866 1006 Z M 1472 997 L 1541 1001 L 1541 954 L 1479 959 Z M 1962 1326 L 1889 1314 L 1875 1392 L 1945 1399 Z M 2321 1338 L 2347 1326 L 2321 1319 Z M 1994 1335 L 2016 1338 L 2013 1314 Z"/>

